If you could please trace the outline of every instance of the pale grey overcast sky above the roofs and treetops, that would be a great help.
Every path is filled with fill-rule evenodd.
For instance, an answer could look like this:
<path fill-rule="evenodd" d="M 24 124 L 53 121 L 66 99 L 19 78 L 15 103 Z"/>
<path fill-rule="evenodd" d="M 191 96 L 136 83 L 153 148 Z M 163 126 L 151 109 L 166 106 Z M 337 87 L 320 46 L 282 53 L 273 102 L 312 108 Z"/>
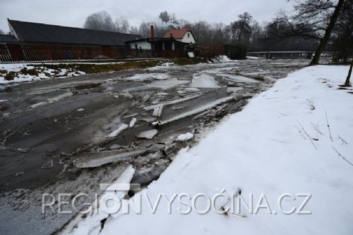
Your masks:
<path fill-rule="evenodd" d="M 157 20 L 161 11 L 176 13 L 191 22 L 229 24 L 245 11 L 258 22 L 274 18 L 279 9 L 289 10 L 286 0 L 0 0 L 0 29 L 8 31 L 6 18 L 35 23 L 82 27 L 90 13 L 107 11 L 124 16 L 131 25 Z"/>

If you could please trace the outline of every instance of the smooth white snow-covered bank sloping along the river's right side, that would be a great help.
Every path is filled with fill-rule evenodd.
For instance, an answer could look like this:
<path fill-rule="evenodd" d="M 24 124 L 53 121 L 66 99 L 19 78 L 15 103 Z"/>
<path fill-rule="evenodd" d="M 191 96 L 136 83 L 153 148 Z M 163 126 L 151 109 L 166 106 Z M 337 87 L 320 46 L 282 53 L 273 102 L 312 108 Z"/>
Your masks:
<path fill-rule="evenodd" d="M 86 221 L 73 234 L 352 234 L 353 96 L 338 89 L 347 70 L 319 65 L 278 80 L 131 198 L 142 198 L 140 214 L 108 217 L 102 231 Z M 209 201 L 198 193 L 223 196 L 203 214 Z M 253 213 L 244 203 L 227 211 L 224 196 L 234 195 L 249 205 L 253 195 Z"/>

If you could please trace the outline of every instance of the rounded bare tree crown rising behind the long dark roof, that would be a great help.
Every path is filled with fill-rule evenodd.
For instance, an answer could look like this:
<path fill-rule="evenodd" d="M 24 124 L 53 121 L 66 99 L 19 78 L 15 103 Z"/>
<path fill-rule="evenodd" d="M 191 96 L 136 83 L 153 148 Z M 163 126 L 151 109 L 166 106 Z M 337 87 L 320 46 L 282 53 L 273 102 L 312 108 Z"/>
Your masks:
<path fill-rule="evenodd" d="M 107 11 L 100 11 L 88 15 L 83 27 L 90 30 L 116 31 L 116 25 L 112 20 L 112 16 L 109 15 Z"/>

